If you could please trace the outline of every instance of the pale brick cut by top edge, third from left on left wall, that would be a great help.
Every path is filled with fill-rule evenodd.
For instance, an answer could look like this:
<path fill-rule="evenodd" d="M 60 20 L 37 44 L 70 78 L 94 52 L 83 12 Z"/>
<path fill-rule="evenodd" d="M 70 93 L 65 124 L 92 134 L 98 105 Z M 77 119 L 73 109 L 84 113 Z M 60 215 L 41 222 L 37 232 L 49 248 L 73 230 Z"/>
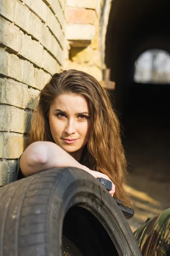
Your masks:
<path fill-rule="evenodd" d="M 34 12 L 41 20 L 46 22 L 48 6 L 43 0 L 25 0 L 25 5 Z"/>

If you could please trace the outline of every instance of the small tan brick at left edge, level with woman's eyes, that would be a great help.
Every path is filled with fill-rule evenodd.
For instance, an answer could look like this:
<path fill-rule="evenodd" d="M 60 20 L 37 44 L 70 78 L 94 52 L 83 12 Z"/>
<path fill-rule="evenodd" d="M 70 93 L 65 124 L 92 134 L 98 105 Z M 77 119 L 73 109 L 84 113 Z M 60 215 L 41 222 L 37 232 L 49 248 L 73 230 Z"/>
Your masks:
<path fill-rule="evenodd" d="M 0 105 L 0 131 L 9 131 L 10 107 Z"/>

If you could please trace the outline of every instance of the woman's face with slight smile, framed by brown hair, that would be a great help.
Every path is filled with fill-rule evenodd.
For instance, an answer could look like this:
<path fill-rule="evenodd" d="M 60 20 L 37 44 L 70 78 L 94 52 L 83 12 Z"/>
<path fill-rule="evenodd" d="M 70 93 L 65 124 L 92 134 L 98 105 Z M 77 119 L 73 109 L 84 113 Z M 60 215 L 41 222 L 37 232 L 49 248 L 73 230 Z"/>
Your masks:
<path fill-rule="evenodd" d="M 80 160 L 89 140 L 89 108 L 86 99 L 76 94 L 57 96 L 50 107 L 49 126 L 55 143 Z"/>

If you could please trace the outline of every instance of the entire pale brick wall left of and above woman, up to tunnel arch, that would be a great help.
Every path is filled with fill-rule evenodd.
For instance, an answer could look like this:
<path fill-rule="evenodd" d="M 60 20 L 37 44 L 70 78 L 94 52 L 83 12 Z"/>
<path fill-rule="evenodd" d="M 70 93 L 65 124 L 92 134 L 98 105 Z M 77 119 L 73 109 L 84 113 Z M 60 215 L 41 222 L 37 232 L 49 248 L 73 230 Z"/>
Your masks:
<path fill-rule="evenodd" d="M 0 0 L 0 186 L 14 180 L 31 108 L 50 77 L 73 68 L 103 79 L 111 2 Z"/>

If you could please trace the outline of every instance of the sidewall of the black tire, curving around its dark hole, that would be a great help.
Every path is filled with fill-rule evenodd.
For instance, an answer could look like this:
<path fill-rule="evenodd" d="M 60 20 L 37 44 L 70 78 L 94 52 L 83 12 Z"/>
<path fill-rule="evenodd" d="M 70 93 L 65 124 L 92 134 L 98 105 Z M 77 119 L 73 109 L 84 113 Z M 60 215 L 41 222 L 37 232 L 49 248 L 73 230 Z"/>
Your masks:
<path fill-rule="evenodd" d="M 119 255 L 141 255 L 126 218 L 104 186 L 92 175 L 78 168 L 67 167 L 58 172 L 62 172 L 63 177 L 58 181 L 51 195 L 52 207 L 49 207 L 48 225 L 50 252 L 55 255 L 56 250 L 61 248 L 64 216 L 71 207 L 79 205 L 92 212 L 103 224 L 114 241 Z M 57 244 L 53 239 L 56 222 L 60 234 Z"/>

